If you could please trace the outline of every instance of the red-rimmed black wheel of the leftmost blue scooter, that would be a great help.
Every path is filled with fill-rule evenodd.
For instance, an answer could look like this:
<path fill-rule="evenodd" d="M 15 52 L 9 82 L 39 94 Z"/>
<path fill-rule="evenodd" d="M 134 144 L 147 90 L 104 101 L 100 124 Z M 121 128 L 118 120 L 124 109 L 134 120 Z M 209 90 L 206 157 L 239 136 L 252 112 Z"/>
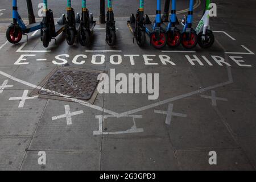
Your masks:
<path fill-rule="evenodd" d="M 22 30 L 19 27 L 11 25 L 7 28 L 6 38 L 12 44 L 17 44 L 22 39 Z"/>

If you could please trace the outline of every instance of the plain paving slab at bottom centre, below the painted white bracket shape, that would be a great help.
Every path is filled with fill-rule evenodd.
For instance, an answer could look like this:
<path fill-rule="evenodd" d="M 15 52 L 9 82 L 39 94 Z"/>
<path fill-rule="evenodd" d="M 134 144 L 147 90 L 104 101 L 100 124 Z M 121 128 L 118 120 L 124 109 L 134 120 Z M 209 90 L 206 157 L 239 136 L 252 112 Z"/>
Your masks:
<path fill-rule="evenodd" d="M 101 170 L 177 170 L 168 138 L 104 138 Z"/>

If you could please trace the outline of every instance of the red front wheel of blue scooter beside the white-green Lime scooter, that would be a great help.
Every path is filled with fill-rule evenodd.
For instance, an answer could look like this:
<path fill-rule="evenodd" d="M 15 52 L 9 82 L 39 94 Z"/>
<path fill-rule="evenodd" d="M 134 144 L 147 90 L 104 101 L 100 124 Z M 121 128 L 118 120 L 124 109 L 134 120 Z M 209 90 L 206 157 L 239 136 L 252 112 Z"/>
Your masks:
<path fill-rule="evenodd" d="M 197 44 L 197 34 L 194 31 L 183 32 L 181 34 L 181 44 L 184 48 L 192 49 L 196 47 Z"/>

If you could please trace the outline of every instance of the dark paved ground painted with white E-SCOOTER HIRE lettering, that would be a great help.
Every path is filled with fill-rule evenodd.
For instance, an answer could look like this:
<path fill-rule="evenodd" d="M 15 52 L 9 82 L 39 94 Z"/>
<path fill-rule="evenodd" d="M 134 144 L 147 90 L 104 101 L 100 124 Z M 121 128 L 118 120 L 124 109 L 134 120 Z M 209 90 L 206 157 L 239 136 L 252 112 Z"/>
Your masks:
<path fill-rule="evenodd" d="M 24 2 L 18 1 L 18 8 L 27 18 Z M 38 17 L 40 1 L 33 2 Z M 149 43 L 142 48 L 133 43 L 127 18 L 116 18 L 113 48 L 106 45 L 105 25 L 98 22 L 90 47 L 77 42 L 68 46 L 60 35 L 56 44 L 52 41 L 44 48 L 39 32 L 29 34 L 28 42 L 23 36 L 13 45 L 5 37 L 11 1 L 2 0 L 0 170 L 255 170 L 256 2 L 213 2 L 217 4 L 217 17 L 210 19 L 213 47 L 157 50 Z M 55 17 L 64 13 L 64 3 L 49 1 Z M 114 1 L 114 13 L 129 16 L 137 4 Z M 148 14 L 155 14 L 155 1 L 145 6 Z M 195 6 L 193 27 L 204 8 L 199 0 Z M 74 1 L 73 7 L 79 11 L 80 3 Z M 88 1 L 88 7 L 98 18 L 99 1 Z M 179 19 L 187 8 L 188 1 L 177 2 Z M 46 96 L 48 80 L 51 89 L 66 81 L 79 92 L 76 85 L 89 77 L 74 80 L 72 74 L 84 71 L 94 77 L 104 72 L 109 78 L 122 73 L 127 81 L 129 73 L 145 74 L 149 85 L 152 78 L 155 92 L 150 86 L 146 93 L 130 94 L 88 89 L 94 93 L 90 101 L 82 100 L 87 97 L 83 94 Z M 58 76 L 64 72 L 67 75 Z M 53 73 L 55 80 L 48 79 Z M 68 90 L 63 85 L 63 92 L 74 94 Z M 46 164 L 38 160 L 44 154 Z"/>

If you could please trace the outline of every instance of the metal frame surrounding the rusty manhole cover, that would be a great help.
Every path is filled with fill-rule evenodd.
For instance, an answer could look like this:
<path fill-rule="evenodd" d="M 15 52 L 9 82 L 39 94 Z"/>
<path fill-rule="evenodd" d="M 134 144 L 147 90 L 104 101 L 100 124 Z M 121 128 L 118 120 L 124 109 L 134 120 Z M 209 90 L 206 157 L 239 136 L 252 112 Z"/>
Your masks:
<path fill-rule="evenodd" d="M 52 69 L 52 71 L 42 80 L 42 82 L 40 82 L 40 84 L 38 85 L 38 88 L 32 90 L 32 92 L 29 94 L 29 96 L 30 97 L 38 96 L 39 98 L 46 98 L 46 99 L 51 99 L 51 100 L 60 100 L 60 101 L 72 102 L 72 100 L 70 98 L 76 98 L 76 97 L 63 97 L 63 96 L 57 96 L 57 95 L 52 96 L 52 95 L 40 94 L 39 93 L 39 91 L 47 83 L 49 78 L 51 78 L 59 69 L 63 69 L 63 70 L 66 70 L 66 71 L 94 72 L 94 73 L 99 73 L 99 74 L 100 73 L 105 73 L 104 71 L 93 70 L 93 69 L 82 69 L 82 68 L 74 68 L 74 67 L 68 67 L 68 68 L 67 67 L 56 67 L 56 68 Z M 98 94 L 98 90 L 97 90 L 98 82 L 97 82 L 96 88 L 94 89 L 92 97 L 90 97 L 89 100 L 83 100 L 81 98 L 76 98 L 76 99 L 86 101 L 90 104 L 94 104 L 94 101 L 96 100 L 96 97 L 97 97 L 97 94 Z"/>

